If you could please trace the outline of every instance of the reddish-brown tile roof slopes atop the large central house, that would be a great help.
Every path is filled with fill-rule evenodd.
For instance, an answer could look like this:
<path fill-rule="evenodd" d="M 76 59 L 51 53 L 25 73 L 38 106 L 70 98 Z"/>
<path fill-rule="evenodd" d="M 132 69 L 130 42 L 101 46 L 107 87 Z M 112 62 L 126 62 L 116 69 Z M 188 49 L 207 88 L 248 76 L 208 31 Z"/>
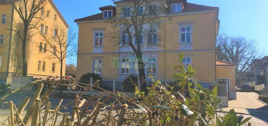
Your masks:
<path fill-rule="evenodd" d="M 123 0 L 125 1 L 125 0 Z M 109 6 L 104 6 L 100 7 L 100 9 L 107 9 L 107 8 L 114 8 L 115 6 L 109 5 Z M 187 6 L 183 10 L 183 12 L 188 12 L 188 11 L 202 11 L 202 10 L 209 10 L 209 9 L 218 9 L 218 7 L 211 7 L 211 6 L 205 6 L 205 5 L 199 5 L 199 4 L 194 4 L 194 3 L 187 3 Z M 76 19 L 75 21 L 79 20 L 96 20 L 96 19 L 102 19 L 102 13 L 88 16 L 85 18 L 79 18 Z"/>

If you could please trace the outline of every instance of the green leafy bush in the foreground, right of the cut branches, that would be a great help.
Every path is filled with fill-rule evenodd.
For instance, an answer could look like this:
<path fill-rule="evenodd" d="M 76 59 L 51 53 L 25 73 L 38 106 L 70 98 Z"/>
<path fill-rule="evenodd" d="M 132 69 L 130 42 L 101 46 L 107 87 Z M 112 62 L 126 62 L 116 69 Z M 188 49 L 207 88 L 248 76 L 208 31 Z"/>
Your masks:
<path fill-rule="evenodd" d="M 148 95 L 137 87 L 135 95 L 142 99 L 141 106 L 138 107 L 147 112 L 148 109 L 145 108 L 150 108 L 153 114 L 132 117 L 144 119 L 155 116 L 157 119 L 148 122 L 153 126 L 241 126 L 249 121 L 250 118 L 243 120 L 243 117 L 236 116 L 233 110 L 228 114 L 223 112 L 223 117 L 218 116 L 217 110 L 222 108 L 219 107 L 221 100 L 217 98 L 217 86 L 209 90 L 191 81 L 194 80 L 195 70 L 191 65 L 186 70 L 182 64 L 183 58 L 182 53 L 179 56 L 179 65 L 174 68 L 178 72 L 173 74 L 179 90 L 174 91 L 174 86 L 169 86 L 172 90 L 167 90 L 160 81 L 153 80 L 151 76 L 153 85 L 147 88 Z M 197 89 L 194 89 L 193 85 Z M 132 123 L 144 124 L 138 121 Z"/>

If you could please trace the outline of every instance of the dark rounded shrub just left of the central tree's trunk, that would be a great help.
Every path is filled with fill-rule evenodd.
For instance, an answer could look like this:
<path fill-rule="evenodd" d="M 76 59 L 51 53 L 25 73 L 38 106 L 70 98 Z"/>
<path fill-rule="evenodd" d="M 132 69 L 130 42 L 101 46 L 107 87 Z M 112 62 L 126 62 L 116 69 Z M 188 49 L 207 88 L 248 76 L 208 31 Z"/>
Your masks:
<path fill-rule="evenodd" d="M 126 91 L 134 91 L 137 85 L 138 85 L 138 77 L 133 74 L 127 76 L 122 82 L 123 90 Z"/>

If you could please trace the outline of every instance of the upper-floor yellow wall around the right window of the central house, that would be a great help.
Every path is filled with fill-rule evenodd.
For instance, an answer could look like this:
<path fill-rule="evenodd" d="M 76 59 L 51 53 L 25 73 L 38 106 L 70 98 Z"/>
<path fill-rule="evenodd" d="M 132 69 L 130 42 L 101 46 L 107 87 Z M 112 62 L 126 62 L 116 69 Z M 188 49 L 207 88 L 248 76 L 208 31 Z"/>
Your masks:
<path fill-rule="evenodd" d="M 171 21 L 166 18 L 165 23 L 165 49 L 173 51 L 179 49 L 179 26 L 178 23 L 192 22 L 192 49 L 214 50 L 215 49 L 215 25 L 216 13 L 194 14 L 173 16 Z"/>

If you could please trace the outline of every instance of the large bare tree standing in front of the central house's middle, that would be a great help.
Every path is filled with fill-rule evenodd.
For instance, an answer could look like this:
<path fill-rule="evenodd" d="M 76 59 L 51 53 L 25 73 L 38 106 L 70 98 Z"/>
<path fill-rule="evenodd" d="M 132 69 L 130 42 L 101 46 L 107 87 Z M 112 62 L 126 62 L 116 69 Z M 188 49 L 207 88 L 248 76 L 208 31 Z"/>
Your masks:
<path fill-rule="evenodd" d="M 113 0 L 116 16 L 111 18 L 114 32 L 109 36 L 115 43 L 128 45 L 134 51 L 138 63 L 141 89 L 145 89 L 145 64 L 142 59 L 142 46 L 159 46 L 157 34 L 161 25 L 161 16 L 166 11 L 166 0 Z M 118 33 L 120 34 L 118 37 Z"/>

